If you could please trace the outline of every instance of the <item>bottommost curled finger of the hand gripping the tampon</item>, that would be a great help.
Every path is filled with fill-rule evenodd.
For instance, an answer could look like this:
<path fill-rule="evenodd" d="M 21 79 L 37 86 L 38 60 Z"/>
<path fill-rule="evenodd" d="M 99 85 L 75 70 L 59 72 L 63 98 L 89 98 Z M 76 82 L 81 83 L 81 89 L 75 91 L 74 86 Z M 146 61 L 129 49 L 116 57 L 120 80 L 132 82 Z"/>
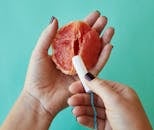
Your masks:
<path fill-rule="evenodd" d="M 94 117 L 92 116 L 79 116 L 77 117 L 77 121 L 80 124 L 85 125 L 89 128 L 94 128 Z M 98 130 L 103 130 L 105 125 L 105 120 L 97 119 L 97 124 L 98 124 Z"/>

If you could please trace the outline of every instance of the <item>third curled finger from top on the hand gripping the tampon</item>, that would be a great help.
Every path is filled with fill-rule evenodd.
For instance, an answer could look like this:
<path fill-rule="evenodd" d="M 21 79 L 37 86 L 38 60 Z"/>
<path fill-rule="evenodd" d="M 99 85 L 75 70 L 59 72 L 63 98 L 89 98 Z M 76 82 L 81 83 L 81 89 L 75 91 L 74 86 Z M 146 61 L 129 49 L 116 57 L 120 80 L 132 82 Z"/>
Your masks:
<path fill-rule="evenodd" d="M 100 119 L 105 119 L 105 109 L 104 108 L 100 108 L 100 107 L 96 107 L 96 111 L 97 111 L 97 118 Z M 76 106 L 74 107 L 72 113 L 78 117 L 78 116 L 92 116 L 94 117 L 94 112 L 91 106 Z"/>

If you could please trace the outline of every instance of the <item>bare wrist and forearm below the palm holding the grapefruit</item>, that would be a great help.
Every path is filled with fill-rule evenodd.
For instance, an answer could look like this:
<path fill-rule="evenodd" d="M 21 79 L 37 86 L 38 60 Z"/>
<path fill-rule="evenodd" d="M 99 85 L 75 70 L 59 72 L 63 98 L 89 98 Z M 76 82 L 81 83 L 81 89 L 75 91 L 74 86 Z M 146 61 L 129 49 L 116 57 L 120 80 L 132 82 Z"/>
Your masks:
<path fill-rule="evenodd" d="M 47 130 L 52 119 L 51 114 L 43 108 L 41 103 L 23 90 L 1 128 L 3 130 Z"/>

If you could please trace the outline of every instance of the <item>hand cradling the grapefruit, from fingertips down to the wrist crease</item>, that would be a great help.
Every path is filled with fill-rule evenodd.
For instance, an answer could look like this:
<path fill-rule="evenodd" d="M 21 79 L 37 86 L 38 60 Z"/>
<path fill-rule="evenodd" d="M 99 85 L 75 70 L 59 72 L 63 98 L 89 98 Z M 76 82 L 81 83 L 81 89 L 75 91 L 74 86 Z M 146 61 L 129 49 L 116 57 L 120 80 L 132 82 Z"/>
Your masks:
<path fill-rule="evenodd" d="M 84 21 L 99 33 L 107 23 L 107 19 L 100 16 L 98 11 L 91 13 Z M 48 54 L 57 29 L 58 21 L 54 19 L 40 36 L 31 56 L 24 85 L 24 91 L 37 99 L 53 117 L 67 106 L 67 99 L 70 96 L 68 86 L 77 79 L 76 76 L 68 76 L 57 70 L 51 56 Z M 109 58 L 112 50 L 112 45 L 109 42 L 113 33 L 113 28 L 108 28 L 101 37 L 104 48 L 98 63 L 90 70 L 95 75 L 103 68 Z"/>

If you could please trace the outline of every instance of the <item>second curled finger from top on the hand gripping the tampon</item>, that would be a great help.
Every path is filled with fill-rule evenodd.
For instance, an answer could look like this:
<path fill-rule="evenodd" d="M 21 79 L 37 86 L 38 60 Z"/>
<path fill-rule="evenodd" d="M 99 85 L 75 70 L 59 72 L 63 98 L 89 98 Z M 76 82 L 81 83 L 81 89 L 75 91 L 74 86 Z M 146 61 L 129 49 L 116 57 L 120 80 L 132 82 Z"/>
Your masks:
<path fill-rule="evenodd" d="M 75 94 L 68 99 L 68 104 L 70 106 L 90 106 L 90 95 L 86 93 Z M 96 95 L 94 96 L 94 105 L 104 107 L 103 101 Z"/>

